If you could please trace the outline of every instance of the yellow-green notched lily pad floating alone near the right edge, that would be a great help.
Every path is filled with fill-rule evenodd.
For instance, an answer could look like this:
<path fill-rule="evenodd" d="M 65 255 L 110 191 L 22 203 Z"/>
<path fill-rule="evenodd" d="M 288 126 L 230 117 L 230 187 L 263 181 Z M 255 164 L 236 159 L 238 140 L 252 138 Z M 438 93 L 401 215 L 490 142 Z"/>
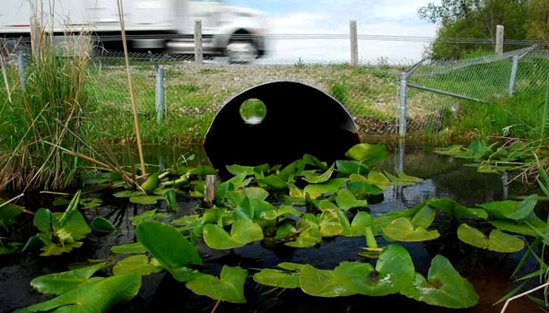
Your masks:
<path fill-rule="evenodd" d="M 457 228 L 457 238 L 476 248 L 502 253 L 518 252 L 524 248 L 524 241 L 515 236 L 508 235 L 500 230 L 492 230 L 488 237 L 467 224 L 461 224 Z"/>

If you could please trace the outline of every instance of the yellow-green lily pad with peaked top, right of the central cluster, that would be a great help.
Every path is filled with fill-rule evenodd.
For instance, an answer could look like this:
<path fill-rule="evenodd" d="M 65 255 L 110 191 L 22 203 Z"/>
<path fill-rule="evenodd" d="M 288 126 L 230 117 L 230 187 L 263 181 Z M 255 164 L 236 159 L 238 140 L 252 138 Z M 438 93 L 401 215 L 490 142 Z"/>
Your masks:
<path fill-rule="evenodd" d="M 423 226 L 414 229 L 414 225 L 405 217 L 397 218 L 383 229 L 383 233 L 390 239 L 398 241 L 416 242 L 437 239 L 438 230 L 425 230 Z"/>

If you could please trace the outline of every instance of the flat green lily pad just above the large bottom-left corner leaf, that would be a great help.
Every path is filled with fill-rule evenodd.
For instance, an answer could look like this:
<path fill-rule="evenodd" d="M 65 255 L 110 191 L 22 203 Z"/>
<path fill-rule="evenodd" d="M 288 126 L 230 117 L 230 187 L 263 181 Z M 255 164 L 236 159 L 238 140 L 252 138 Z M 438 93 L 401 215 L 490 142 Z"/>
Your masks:
<path fill-rule="evenodd" d="M 44 294 L 63 294 L 88 283 L 92 283 L 94 281 L 94 279 L 91 278 L 92 275 L 106 266 L 107 263 L 102 262 L 80 267 L 68 272 L 39 276 L 30 281 L 30 286 L 36 291 Z"/>

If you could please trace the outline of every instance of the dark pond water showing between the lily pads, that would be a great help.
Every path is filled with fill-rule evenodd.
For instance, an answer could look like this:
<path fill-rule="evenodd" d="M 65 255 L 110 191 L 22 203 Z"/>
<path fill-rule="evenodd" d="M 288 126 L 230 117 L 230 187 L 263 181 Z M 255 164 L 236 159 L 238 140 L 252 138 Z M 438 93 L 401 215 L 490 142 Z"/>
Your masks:
<path fill-rule="evenodd" d="M 177 161 L 182 154 L 196 155 L 195 164 L 205 164 L 204 151 L 200 146 L 173 147 L 169 151 L 160 151 L 154 147 L 148 149 L 148 162 L 165 167 Z M 123 157 L 121 157 L 123 158 Z M 407 148 L 405 157 L 397 152 L 391 152 L 386 161 L 381 164 L 386 170 L 399 167 L 409 175 L 425 180 L 413 187 L 390 187 L 386 190 L 384 200 L 379 204 L 371 204 L 371 213 L 377 216 L 382 213 L 399 210 L 421 203 L 424 199 L 450 197 L 461 204 L 473 206 L 484 202 L 503 200 L 527 192 L 527 187 L 517 183 L 506 184 L 508 178 L 495 174 L 479 174 L 475 169 L 462 166 L 463 161 L 452 157 L 433 154 L 429 149 Z M 96 194 L 106 204 L 100 208 L 85 212 L 86 218 L 108 218 L 117 225 L 117 230 L 107 236 L 91 234 L 84 239 L 82 248 L 66 256 L 38 257 L 38 251 L 31 253 L 0 256 L 0 311 L 12 311 L 49 297 L 40 295 L 30 287 L 30 280 L 42 274 L 65 271 L 66 265 L 85 263 L 90 259 L 106 259 L 111 246 L 135 242 L 133 226 L 129 218 L 143 213 L 151 207 L 128 204 L 126 200 L 116 199 L 110 194 Z M 44 204 L 51 199 L 42 199 Z M 180 198 L 178 215 L 193 213 L 196 201 Z M 164 211 L 164 204 L 159 204 Z M 28 204 L 30 209 L 38 209 Z M 25 220 L 25 219 L 22 219 Z M 457 271 L 475 285 L 475 290 L 481 299 L 468 312 L 498 312 L 501 306 L 492 306 L 501 296 L 516 287 L 509 279 L 522 252 L 515 254 L 498 254 L 470 247 L 460 243 L 455 235 L 455 227 L 444 216 L 437 217 L 436 227 L 441 233 L 447 234 L 440 239 L 403 244 L 410 251 L 416 271 L 427 274 L 431 258 L 441 254 L 449 258 Z M 33 234 L 30 218 L 20 222 L 15 230 L 15 236 L 24 241 Z M 379 245 L 386 242 L 379 239 Z M 266 247 L 264 242 L 257 242 L 231 252 L 211 250 L 199 245 L 199 251 L 205 260 L 204 272 L 219 274 L 222 265 L 240 265 L 248 268 L 245 293 L 247 304 L 222 303 L 218 312 L 362 312 L 371 309 L 388 309 L 399 311 L 443 312 L 440 309 L 408 300 L 405 296 L 392 295 L 386 297 L 352 296 L 324 299 L 310 297 L 300 290 L 273 290 L 271 287 L 257 285 L 251 279 L 251 274 L 258 268 L 274 267 L 278 263 L 291 261 L 309 263 L 319 268 L 330 269 L 342 261 L 362 260 L 358 256 L 360 248 L 365 247 L 364 238 L 324 239 L 313 248 L 288 248 L 285 246 Z M 521 274 L 532 272 L 536 262 L 529 259 Z M 109 270 L 108 270 L 109 271 Z M 108 273 L 109 274 L 109 273 Z M 173 280 L 170 274 L 152 274 L 144 276 L 143 286 L 134 300 L 113 309 L 115 312 L 209 312 L 213 309 L 214 300 L 196 296 L 187 291 L 183 283 Z M 536 305 L 527 299 L 517 300 L 510 306 L 509 312 L 539 311 Z"/>

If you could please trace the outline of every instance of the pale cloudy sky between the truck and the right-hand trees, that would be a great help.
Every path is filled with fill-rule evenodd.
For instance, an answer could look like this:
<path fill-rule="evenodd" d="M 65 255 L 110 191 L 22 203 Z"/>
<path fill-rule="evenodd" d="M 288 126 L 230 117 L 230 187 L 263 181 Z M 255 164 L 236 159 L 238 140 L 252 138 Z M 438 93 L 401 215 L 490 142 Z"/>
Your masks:
<path fill-rule="evenodd" d="M 347 34 L 357 21 L 359 35 L 435 37 L 437 26 L 419 18 L 419 7 L 433 0 L 227 0 L 229 4 L 266 13 L 273 34 Z M 435 0 L 435 2 L 437 2 Z M 270 42 L 277 59 L 348 60 L 349 39 L 276 39 Z M 376 61 L 419 60 L 427 43 L 359 40 L 359 58 Z"/>

